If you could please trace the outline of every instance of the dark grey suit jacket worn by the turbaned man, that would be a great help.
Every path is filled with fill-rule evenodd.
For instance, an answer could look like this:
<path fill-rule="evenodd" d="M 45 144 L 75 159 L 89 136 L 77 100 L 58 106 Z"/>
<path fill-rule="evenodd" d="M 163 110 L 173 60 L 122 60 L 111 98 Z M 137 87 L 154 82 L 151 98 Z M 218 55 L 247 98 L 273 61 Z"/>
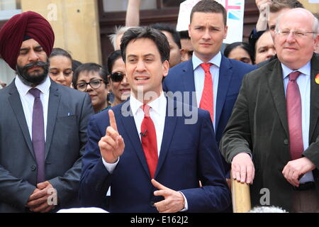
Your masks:
<path fill-rule="evenodd" d="M 37 166 L 14 81 L 0 90 L 0 105 L 0 212 L 23 212 L 36 186 Z M 45 177 L 57 189 L 57 209 L 78 206 L 81 157 L 91 114 L 88 94 L 51 80 Z"/>

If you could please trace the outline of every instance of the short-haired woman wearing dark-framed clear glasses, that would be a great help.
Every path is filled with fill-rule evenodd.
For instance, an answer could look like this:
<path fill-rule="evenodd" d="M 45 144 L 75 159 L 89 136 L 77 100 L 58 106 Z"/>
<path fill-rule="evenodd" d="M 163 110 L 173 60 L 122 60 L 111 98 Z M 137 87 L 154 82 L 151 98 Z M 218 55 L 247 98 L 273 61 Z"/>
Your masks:
<path fill-rule="evenodd" d="M 108 79 L 106 70 L 96 63 L 85 63 L 77 67 L 72 79 L 74 89 L 91 96 L 95 113 L 110 108 L 108 104 Z"/>

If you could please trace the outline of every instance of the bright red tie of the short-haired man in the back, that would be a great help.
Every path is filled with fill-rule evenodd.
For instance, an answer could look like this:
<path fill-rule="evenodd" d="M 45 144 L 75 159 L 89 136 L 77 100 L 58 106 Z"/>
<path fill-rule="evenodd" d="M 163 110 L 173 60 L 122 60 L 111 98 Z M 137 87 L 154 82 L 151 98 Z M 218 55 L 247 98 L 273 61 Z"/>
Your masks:
<path fill-rule="evenodd" d="M 203 87 L 203 93 L 201 94 L 201 102 L 199 103 L 199 108 L 209 111 L 211 114 L 211 121 L 214 120 L 214 111 L 213 111 L 213 79 L 211 78 L 210 67 L 212 63 L 201 63 L 201 67 L 205 72 L 205 82 Z"/>

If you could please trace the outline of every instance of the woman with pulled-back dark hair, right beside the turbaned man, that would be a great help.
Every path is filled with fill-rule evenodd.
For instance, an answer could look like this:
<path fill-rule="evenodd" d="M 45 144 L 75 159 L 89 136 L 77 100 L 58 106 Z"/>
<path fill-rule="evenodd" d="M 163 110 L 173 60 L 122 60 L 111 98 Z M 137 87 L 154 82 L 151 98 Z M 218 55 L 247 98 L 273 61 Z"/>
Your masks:
<path fill-rule="evenodd" d="M 66 50 L 53 48 L 49 57 L 50 78 L 58 84 L 71 87 L 72 83 L 72 57 Z"/>

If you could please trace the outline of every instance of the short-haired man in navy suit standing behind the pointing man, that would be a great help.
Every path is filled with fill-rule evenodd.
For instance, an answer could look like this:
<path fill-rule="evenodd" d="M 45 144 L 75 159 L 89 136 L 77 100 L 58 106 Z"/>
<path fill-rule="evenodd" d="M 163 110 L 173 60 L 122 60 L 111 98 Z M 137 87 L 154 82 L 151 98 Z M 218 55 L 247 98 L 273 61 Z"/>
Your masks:
<path fill-rule="evenodd" d="M 255 69 L 237 60 L 230 60 L 220 53 L 226 38 L 227 14 L 217 1 L 202 0 L 191 11 L 189 36 L 194 47 L 191 60 L 182 62 L 169 70 L 164 79 L 165 92 L 196 92 L 186 103 L 211 112 L 216 140 L 219 143 L 223 130 L 230 118 L 244 75 Z M 205 73 L 201 63 L 211 63 L 210 73 L 213 87 L 211 106 L 201 106 L 206 99 Z"/>

